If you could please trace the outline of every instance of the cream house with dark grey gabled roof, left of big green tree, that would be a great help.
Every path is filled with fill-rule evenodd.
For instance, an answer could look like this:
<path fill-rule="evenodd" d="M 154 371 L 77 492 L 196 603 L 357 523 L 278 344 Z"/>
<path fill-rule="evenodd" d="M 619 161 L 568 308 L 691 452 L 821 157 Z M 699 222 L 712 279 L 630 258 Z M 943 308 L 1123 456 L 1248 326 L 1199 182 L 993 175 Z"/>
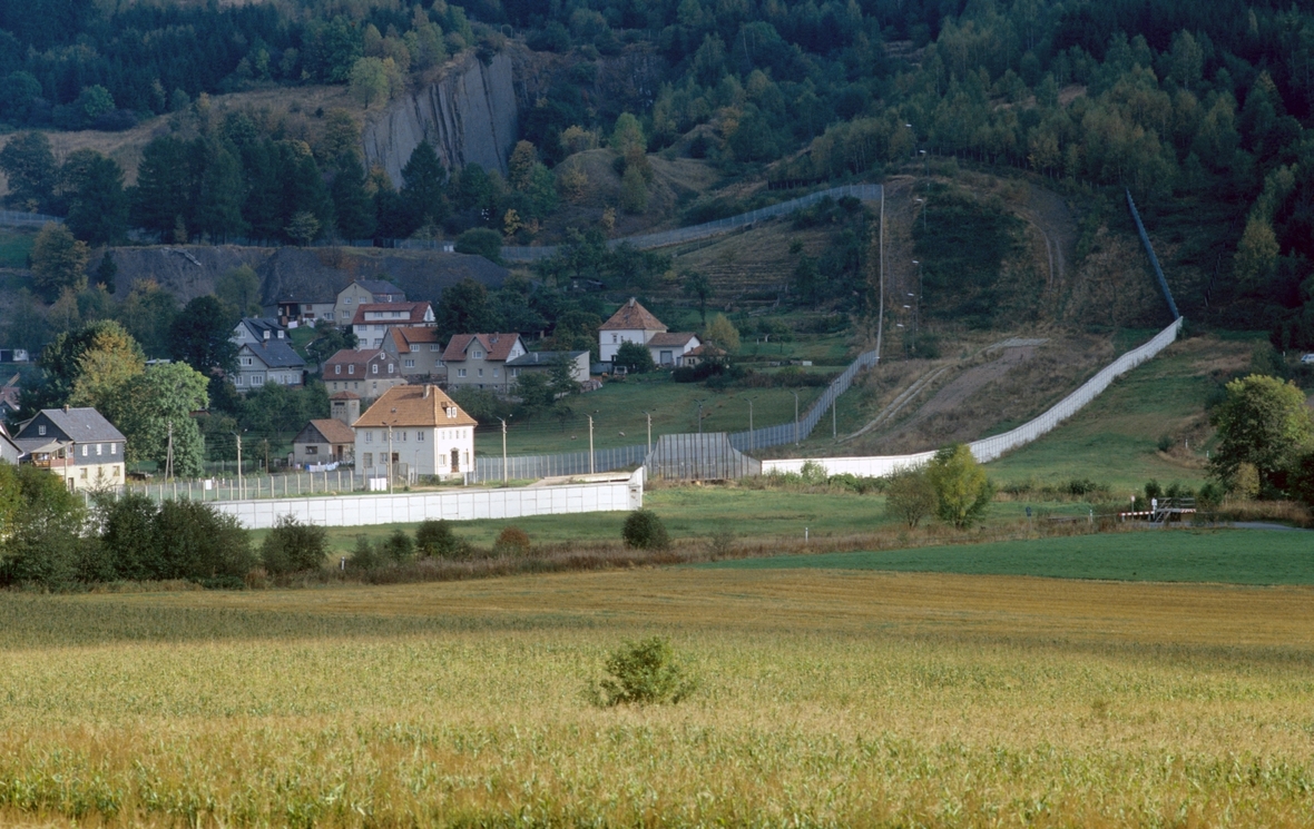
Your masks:
<path fill-rule="evenodd" d="M 28 462 L 58 474 L 71 490 L 121 486 L 127 439 L 95 409 L 42 409 L 13 443 Z"/>

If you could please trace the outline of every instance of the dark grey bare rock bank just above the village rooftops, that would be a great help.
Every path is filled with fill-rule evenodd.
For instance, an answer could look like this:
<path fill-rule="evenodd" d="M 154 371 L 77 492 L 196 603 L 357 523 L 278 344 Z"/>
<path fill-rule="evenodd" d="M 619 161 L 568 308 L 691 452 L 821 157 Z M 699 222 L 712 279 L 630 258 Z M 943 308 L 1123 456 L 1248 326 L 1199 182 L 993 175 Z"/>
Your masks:
<path fill-rule="evenodd" d="M 482 256 L 439 251 L 230 244 L 116 248 L 114 264 L 117 296 L 146 279 L 172 292 L 179 302 L 214 293 L 214 281 L 226 271 L 250 265 L 260 277 L 264 306 L 290 297 L 323 302 L 353 279 L 389 279 L 409 298 L 436 302 L 444 288 L 466 277 L 498 288 L 507 273 Z"/>

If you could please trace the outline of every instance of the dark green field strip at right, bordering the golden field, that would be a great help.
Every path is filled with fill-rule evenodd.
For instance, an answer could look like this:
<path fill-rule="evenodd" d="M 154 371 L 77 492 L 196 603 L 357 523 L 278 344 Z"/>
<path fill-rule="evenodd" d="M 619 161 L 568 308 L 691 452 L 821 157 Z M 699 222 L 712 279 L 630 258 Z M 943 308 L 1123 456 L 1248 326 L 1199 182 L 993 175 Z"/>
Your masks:
<path fill-rule="evenodd" d="M 1314 533 L 1167 529 L 909 550 L 745 558 L 694 566 L 1314 585 Z"/>

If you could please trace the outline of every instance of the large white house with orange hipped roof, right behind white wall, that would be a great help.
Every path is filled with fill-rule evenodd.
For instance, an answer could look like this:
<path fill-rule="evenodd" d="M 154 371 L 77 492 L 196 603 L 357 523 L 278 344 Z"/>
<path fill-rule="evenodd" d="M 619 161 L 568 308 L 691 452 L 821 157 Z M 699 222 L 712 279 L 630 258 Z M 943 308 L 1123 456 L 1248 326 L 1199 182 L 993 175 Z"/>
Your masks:
<path fill-rule="evenodd" d="M 435 385 L 389 389 L 352 424 L 356 469 L 367 478 L 414 482 L 420 476 L 460 476 L 474 464 L 474 427 Z"/>

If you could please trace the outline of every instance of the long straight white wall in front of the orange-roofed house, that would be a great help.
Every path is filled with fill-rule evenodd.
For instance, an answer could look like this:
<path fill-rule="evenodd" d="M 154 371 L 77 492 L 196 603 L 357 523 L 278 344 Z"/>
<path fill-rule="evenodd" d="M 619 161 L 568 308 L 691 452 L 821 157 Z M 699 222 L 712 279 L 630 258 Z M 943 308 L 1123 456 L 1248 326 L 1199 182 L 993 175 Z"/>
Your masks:
<path fill-rule="evenodd" d="M 339 495 L 222 501 L 214 507 L 247 529 L 268 529 L 292 515 L 319 527 L 368 527 L 428 519 L 468 522 L 480 518 L 524 518 L 569 512 L 618 512 L 644 506 L 644 470 L 628 480 L 514 489 L 459 489 L 405 495 Z"/>

